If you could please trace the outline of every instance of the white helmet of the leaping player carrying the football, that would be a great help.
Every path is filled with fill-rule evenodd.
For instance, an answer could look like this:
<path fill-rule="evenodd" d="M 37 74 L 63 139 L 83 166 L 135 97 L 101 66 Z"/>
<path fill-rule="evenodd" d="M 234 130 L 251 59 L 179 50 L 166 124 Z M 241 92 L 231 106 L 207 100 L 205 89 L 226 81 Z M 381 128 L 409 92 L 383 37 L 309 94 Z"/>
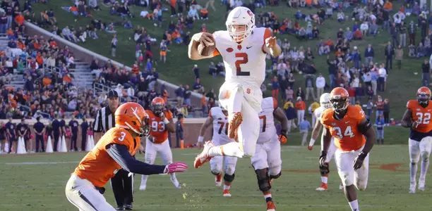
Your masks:
<path fill-rule="evenodd" d="M 228 14 L 227 22 L 225 24 L 227 25 L 230 37 L 234 41 L 242 41 L 251 36 L 253 27 L 255 27 L 255 15 L 253 15 L 249 8 L 238 6 Z M 233 25 L 244 25 L 245 30 L 237 32 Z"/>

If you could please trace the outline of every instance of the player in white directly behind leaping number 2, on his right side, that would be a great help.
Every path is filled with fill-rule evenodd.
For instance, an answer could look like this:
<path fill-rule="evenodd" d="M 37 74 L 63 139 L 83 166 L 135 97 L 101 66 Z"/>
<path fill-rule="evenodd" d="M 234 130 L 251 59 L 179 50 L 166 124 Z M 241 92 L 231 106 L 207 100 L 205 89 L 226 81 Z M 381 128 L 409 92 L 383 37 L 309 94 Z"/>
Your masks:
<path fill-rule="evenodd" d="M 280 158 L 280 143 L 287 142 L 288 119 L 284 110 L 277 107 L 275 98 L 268 97 L 261 103 L 260 135 L 256 143 L 256 151 L 251 162 L 258 179 L 258 187 L 263 191 L 267 211 L 275 211 L 272 200 L 271 184 L 282 174 L 282 159 Z M 276 134 L 275 120 L 282 124 L 280 136 Z"/>

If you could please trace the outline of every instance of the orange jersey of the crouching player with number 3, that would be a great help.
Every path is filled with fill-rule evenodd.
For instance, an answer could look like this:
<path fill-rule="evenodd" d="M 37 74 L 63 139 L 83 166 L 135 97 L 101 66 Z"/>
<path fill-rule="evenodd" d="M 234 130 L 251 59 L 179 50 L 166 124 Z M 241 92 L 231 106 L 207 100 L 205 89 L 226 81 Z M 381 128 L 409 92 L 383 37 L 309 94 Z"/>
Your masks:
<path fill-rule="evenodd" d="M 135 155 L 136 149 L 140 146 L 140 138 L 136 137 L 134 140 L 131 134 L 121 127 L 109 129 L 97 141 L 95 148 L 85 155 L 73 174 L 76 174 L 81 179 L 87 179 L 97 187 L 103 187 L 107 184 L 109 179 L 114 177 L 117 170 L 121 169 L 121 166 L 107 152 L 106 147 L 112 143 L 126 146 L 129 153 Z"/>

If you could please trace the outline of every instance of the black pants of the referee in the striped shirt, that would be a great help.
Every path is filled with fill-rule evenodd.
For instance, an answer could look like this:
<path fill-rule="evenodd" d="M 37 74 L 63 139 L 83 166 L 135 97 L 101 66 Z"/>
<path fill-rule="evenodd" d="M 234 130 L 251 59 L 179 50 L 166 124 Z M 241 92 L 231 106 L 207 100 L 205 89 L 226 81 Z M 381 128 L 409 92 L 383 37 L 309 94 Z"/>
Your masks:
<path fill-rule="evenodd" d="M 111 179 L 111 187 L 114 198 L 116 198 L 117 207 L 133 203 L 133 175 L 128 177 L 128 174 L 128 171 L 121 169 Z"/>

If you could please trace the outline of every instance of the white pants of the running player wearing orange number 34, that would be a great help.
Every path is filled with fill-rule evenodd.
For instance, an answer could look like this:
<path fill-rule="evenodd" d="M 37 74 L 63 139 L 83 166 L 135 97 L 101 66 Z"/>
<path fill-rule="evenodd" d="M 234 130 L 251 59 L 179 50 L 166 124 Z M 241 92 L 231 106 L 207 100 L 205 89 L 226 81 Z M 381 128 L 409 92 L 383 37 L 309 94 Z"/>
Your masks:
<path fill-rule="evenodd" d="M 363 147 L 357 151 L 342 151 L 340 148 L 337 148 L 335 161 L 337 173 L 342 180 L 342 184 L 344 186 L 354 184 L 357 189 L 364 191 L 368 185 L 369 154 L 364 158 L 363 165 L 358 170 L 354 170 L 354 160 L 361 153 L 362 149 Z"/>

